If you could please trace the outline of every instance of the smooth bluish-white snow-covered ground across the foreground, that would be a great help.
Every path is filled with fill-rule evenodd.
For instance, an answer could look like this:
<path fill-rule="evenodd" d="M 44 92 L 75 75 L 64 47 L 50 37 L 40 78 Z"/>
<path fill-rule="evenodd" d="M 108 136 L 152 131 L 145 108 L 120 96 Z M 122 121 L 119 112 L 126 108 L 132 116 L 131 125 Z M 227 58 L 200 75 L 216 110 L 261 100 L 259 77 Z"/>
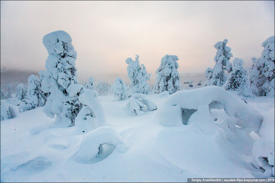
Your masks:
<path fill-rule="evenodd" d="M 250 163 L 253 143 L 260 137 L 254 132 L 252 138 L 242 138 L 237 132 L 225 136 L 221 124 L 229 117 L 224 109 L 211 110 L 216 130 L 204 133 L 188 123 L 163 125 L 159 112 L 169 94 L 145 96 L 158 109 L 145 109 L 144 115 L 130 111 L 129 99 L 98 96 L 109 127 L 90 132 L 55 123 L 42 112 L 43 107 L 1 121 L 1 182 L 186 182 L 187 178 L 260 177 L 262 170 Z M 246 102 L 244 105 L 263 116 L 275 103 L 268 96 Z M 99 148 L 98 144 L 104 145 Z"/>

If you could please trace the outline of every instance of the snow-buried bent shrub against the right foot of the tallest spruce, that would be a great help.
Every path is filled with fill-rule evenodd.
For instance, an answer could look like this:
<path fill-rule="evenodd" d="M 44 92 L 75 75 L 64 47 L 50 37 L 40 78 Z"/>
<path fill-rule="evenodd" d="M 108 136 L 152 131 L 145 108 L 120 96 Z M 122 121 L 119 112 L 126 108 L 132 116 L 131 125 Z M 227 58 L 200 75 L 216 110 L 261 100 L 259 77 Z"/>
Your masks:
<path fill-rule="evenodd" d="M 79 101 L 85 105 L 75 118 L 75 126 L 80 131 L 89 132 L 98 127 L 108 126 L 104 108 L 97 96 L 95 90 L 87 90 L 79 95 Z"/>

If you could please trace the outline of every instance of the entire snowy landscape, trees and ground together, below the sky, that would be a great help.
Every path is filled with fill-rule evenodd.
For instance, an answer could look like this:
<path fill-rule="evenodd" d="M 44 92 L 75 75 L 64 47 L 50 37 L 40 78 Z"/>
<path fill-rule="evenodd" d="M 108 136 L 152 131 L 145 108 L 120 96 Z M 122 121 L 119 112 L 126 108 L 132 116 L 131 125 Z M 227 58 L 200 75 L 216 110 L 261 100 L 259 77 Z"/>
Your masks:
<path fill-rule="evenodd" d="M 45 35 L 45 70 L 1 88 L 1 182 L 274 178 L 274 38 L 248 68 L 217 40 L 193 89 L 166 53 L 153 87 L 141 55 L 125 56 L 129 84 L 80 84 L 71 36 Z"/>

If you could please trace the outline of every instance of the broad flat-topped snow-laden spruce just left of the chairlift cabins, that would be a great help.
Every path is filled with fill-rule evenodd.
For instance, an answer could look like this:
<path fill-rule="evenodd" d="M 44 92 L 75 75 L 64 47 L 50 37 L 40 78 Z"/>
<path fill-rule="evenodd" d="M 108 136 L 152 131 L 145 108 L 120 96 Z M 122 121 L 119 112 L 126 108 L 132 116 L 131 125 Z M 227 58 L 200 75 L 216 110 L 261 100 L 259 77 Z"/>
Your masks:
<path fill-rule="evenodd" d="M 166 55 L 161 59 L 160 67 L 156 70 L 156 83 L 153 92 L 159 94 L 168 91 L 170 94 L 181 90 L 178 74 L 178 56 Z"/>

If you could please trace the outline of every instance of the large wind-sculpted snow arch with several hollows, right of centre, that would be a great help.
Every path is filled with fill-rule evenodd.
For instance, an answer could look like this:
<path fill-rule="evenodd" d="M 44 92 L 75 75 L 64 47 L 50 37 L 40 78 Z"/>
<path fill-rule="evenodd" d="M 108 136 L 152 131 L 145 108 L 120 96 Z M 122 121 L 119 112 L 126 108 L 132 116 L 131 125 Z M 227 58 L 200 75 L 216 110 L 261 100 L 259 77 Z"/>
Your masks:
<path fill-rule="evenodd" d="M 187 124 L 194 123 L 206 133 L 208 132 L 205 127 L 210 130 L 215 127 L 210 115 L 211 109 L 224 109 L 229 117 L 239 119 L 236 125 L 251 128 L 251 131 L 257 134 L 263 120 L 262 114 L 230 92 L 218 86 L 209 86 L 172 94 L 159 109 L 160 122 L 167 126 L 182 125 L 185 109 L 197 110 L 191 114 Z"/>

